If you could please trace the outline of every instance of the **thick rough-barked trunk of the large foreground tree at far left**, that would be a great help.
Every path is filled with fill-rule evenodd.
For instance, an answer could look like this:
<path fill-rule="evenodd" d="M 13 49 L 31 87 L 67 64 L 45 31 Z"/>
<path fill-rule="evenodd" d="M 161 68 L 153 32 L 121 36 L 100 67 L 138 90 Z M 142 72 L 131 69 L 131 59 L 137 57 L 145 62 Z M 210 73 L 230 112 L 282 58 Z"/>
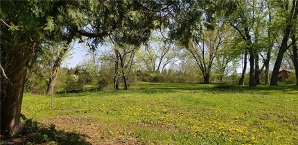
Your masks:
<path fill-rule="evenodd" d="M 26 65 L 28 65 L 30 59 L 28 58 L 30 56 L 30 49 L 26 48 L 26 46 L 19 46 L 19 48 L 12 48 L 11 50 L 14 50 L 10 52 L 13 55 L 6 56 L 8 57 L 6 60 L 11 60 L 11 62 L 8 62 L 8 65 L 3 68 L 9 80 L 4 80 L 1 77 L 0 117 L 1 134 L 10 136 L 15 135 L 15 133 L 21 130 L 21 101 L 26 83 Z"/>

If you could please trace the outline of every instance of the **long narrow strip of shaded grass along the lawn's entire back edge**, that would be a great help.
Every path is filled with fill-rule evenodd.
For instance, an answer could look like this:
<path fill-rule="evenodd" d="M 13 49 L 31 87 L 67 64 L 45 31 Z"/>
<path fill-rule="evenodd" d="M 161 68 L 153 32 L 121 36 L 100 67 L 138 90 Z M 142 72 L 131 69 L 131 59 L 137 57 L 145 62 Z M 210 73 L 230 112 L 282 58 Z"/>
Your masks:
<path fill-rule="evenodd" d="M 92 92 L 95 96 L 117 95 L 126 93 L 140 92 L 143 94 L 158 94 L 158 93 L 175 93 L 181 91 L 190 92 L 209 92 L 213 94 L 218 93 L 252 93 L 252 94 L 272 94 L 276 92 L 283 92 L 285 94 L 298 94 L 297 85 L 281 84 L 279 86 L 257 85 L 256 87 L 238 86 L 227 83 L 138 83 L 128 91 L 102 91 Z M 59 94 L 56 97 L 71 97 L 71 96 L 90 96 L 90 92 L 75 93 L 75 94 Z"/>

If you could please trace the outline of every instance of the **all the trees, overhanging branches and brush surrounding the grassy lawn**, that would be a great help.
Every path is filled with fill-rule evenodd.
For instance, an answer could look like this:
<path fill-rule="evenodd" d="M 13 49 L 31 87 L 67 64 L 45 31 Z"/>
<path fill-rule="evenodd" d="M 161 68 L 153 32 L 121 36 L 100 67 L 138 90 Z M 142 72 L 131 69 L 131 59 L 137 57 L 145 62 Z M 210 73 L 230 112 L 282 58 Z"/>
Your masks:
<path fill-rule="evenodd" d="M 295 69 L 286 81 L 298 85 L 297 0 L 1 1 L 0 13 L 3 135 L 21 129 L 24 91 L 138 81 L 277 86 L 281 69 Z M 62 68 L 76 42 L 89 59 Z"/>

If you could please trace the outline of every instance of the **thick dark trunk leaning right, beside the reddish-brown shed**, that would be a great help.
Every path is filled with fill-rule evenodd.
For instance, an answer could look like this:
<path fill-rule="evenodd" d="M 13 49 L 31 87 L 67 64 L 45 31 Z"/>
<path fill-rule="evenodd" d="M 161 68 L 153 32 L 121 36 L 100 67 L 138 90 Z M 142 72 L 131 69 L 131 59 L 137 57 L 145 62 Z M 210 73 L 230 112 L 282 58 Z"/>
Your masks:
<path fill-rule="evenodd" d="M 288 37 L 290 35 L 290 29 L 288 29 L 283 36 L 283 40 L 281 41 L 281 46 L 279 47 L 279 53 L 277 55 L 277 60 L 274 63 L 274 68 L 272 71 L 272 76 L 270 80 L 270 86 L 277 86 L 277 81 L 279 77 L 279 69 L 281 68 L 281 62 L 283 60 L 283 53 L 286 52 L 288 46 Z"/>

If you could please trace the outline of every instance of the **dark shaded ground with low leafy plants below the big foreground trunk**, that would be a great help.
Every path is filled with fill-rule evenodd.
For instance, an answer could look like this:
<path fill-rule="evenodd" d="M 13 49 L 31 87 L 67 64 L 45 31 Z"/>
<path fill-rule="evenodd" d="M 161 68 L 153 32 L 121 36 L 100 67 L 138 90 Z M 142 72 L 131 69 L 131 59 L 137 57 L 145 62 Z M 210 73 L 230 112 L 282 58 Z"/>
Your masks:
<path fill-rule="evenodd" d="M 21 114 L 24 120 L 24 128 L 21 133 L 13 137 L 1 137 L 1 140 L 8 144 L 78 144 L 90 145 L 85 138 L 87 135 L 81 135 L 73 132 L 65 132 L 64 130 L 56 130 L 55 125 L 45 126 L 42 123 L 27 119 Z"/>

